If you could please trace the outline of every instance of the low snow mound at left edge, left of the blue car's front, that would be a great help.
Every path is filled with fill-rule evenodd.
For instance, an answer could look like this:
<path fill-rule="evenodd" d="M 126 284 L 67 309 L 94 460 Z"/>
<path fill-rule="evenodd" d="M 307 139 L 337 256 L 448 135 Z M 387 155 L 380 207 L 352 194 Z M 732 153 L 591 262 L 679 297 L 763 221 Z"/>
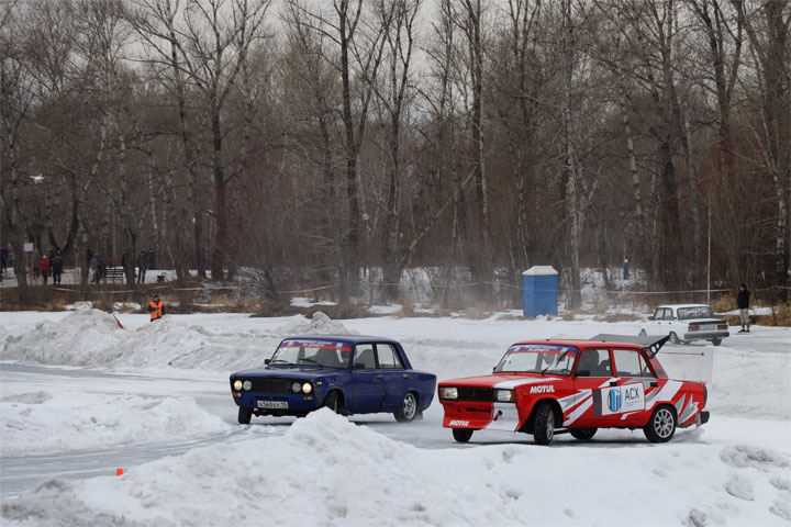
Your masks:
<path fill-rule="evenodd" d="M 0 415 L 3 456 L 179 441 L 234 429 L 185 396 L 25 392 L 0 399 Z"/>

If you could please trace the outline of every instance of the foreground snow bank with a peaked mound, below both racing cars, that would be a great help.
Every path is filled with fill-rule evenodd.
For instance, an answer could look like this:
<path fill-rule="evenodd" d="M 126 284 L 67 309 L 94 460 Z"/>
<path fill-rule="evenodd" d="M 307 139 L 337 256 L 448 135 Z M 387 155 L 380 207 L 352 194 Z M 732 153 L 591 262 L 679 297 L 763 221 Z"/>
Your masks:
<path fill-rule="evenodd" d="M 748 446 L 424 450 L 324 410 L 278 437 L 194 449 L 121 478 L 49 480 L 10 526 L 783 525 L 789 457 Z M 700 481 L 705 484 L 682 484 Z M 572 476 L 572 480 L 569 480 Z M 610 506 L 602 506 L 610 504 Z"/>

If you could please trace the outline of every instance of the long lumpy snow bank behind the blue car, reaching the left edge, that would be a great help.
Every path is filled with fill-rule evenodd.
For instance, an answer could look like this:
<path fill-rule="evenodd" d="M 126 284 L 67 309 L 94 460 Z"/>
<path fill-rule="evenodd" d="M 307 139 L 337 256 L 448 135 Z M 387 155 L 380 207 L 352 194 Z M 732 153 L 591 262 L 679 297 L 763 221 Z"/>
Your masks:
<path fill-rule="evenodd" d="M 183 319 L 183 318 L 181 318 Z M 4 334 L 0 360 L 112 369 L 181 368 L 227 371 L 263 365 L 289 335 L 350 335 L 343 324 L 316 312 L 307 322 L 275 330 L 225 329 L 183 324 L 166 316 L 155 324 L 120 328 L 112 315 L 83 310 L 45 321 L 22 334 Z"/>

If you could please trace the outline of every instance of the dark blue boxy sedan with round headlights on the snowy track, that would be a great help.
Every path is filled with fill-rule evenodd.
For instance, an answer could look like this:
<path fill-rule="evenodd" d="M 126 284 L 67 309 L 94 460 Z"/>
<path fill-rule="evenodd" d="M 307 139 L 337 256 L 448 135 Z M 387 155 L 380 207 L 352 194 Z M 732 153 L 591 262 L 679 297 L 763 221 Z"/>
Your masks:
<path fill-rule="evenodd" d="M 420 418 L 434 399 L 436 375 L 412 369 L 399 343 L 360 336 L 300 336 L 280 343 L 265 368 L 231 375 L 238 422 L 328 407 L 344 415 L 392 412 Z"/>

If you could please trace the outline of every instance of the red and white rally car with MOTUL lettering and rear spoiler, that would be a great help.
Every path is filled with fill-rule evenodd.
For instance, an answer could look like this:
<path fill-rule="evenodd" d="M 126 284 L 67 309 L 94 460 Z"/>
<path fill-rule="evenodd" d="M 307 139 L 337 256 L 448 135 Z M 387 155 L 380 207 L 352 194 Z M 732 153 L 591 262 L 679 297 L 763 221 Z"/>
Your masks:
<path fill-rule="evenodd" d="M 702 382 L 675 381 L 656 354 L 668 337 L 599 335 L 590 340 L 525 340 L 511 346 L 491 375 L 443 381 L 443 426 L 469 441 L 475 430 L 555 434 L 590 439 L 598 428 L 643 428 L 653 442 L 676 427 L 709 421 Z"/>

